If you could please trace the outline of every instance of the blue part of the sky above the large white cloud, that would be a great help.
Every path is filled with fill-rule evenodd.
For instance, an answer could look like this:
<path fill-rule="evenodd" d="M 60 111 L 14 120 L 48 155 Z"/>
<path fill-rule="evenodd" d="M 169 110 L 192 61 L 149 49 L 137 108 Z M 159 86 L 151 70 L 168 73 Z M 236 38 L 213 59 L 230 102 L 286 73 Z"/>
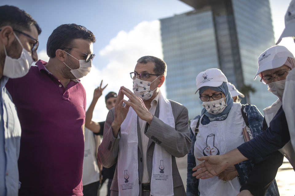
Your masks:
<path fill-rule="evenodd" d="M 67 23 L 83 25 L 94 33 L 97 53 L 121 30 L 130 31 L 142 21 L 153 21 L 192 10 L 178 0 L 2 0 L 2 5 L 14 5 L 24 9 L 42 28 L 39 36 L 39 51 L 46 49 L 49 35 L 57 26 Z M 106 60 L 96 56 L 94 64 L 106 64 Z"/>

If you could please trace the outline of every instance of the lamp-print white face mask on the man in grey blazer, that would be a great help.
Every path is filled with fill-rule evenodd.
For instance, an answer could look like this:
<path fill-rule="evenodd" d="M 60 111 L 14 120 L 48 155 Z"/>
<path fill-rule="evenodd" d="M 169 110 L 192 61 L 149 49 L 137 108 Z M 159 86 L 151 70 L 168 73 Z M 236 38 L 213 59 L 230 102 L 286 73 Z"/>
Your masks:
<path fill-rule="evenodd" d="M 158 76 L 160 77 L 160 76 Z M 156 79 L 158 79 L 158 77 Z M 156 80 L 155 79 L 155 80 Z M 155 81 L 154 80 L 154 81 Z M 158 88 L 155 88 L 153 91 L 150 90 L 151 83 L 149 81 L 140 80 L 138 78 L 135 78 L 133 80 L 133 92 L 136 96 L 140 97 L 142 100 L 148 100 L 153 95 L 154 91 Z"/>

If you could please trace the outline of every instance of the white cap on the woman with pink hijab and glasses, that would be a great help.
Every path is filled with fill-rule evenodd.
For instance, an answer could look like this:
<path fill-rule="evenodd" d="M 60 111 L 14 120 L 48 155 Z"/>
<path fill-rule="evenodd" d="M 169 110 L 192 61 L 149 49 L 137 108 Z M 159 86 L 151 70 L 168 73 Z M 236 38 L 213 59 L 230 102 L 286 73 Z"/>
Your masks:
<path fill-rule="evenodd" d="M 258 71 L 254 80 L 261 72 L 284 65 L 288 57 L 294 59 L 293 54 L 285 46 L 273 46 L 262 52 L 258 57 Z"/>

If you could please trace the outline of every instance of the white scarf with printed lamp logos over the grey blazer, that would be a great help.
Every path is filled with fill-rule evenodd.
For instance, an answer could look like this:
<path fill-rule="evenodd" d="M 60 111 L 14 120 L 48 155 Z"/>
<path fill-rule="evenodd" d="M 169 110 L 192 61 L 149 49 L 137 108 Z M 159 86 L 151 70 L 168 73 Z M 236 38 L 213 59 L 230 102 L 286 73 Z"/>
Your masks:
<path fill-rule="evenodd" d="M 171 103 L 159 92 L 159 119 L 175 127 Z M 137 114 L 132 107 L 121 125 L 118 152 L 119 196 L 139 195 L 138 179 Z M 172 157 L 164 148 L 155 144 L 151 176 L 151 195 L 172 196 Z"/>

